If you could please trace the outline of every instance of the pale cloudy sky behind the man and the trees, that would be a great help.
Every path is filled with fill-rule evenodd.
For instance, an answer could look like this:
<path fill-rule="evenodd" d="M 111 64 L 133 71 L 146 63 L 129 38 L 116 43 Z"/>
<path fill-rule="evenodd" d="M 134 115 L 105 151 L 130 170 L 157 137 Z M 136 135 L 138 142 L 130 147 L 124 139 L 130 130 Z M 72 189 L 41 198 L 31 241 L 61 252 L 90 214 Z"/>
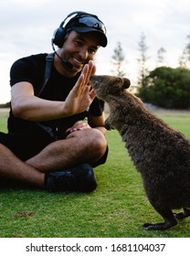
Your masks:
<path fill-rule="evenodd" d="M 108 46 L 96 57 L 97 74 L 111 74 L 118 42 L 125 56 L 126 76 L 135 84 L 142 33 L 148 69 L 154 69 L 159 48 L 165 65 L 176 68 L 190 35 L 189 0 L 5 0 L 0 1 L 0 103 L 10 101 L 9 70 L 25 56 L 52 52 L 54 31 L 69 13 L 99 16 L 107 28 Z"/>

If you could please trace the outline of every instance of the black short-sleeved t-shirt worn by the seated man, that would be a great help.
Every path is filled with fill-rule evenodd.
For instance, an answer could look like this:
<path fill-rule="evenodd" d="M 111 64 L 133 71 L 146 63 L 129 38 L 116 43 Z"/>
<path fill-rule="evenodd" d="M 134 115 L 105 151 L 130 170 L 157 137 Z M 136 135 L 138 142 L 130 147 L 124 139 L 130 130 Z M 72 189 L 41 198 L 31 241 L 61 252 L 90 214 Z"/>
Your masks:
<path fill-rule="evenodd" d="M 35 91 L 35 95 L 41 90 L 46 68 L 47 53 L 32 55 L 23 59 L 18 59 L 10 70 L 10 85 L 13 86 L 20 81 L 30 82 Z M 58 73 L 53 63 L 50 78 L 47 85 L 40 93 L 40 98 L 50 101 L 65 101 L 69 91 L 73 88 L 79 74 L 74 78 L 67 78 Z M 16 118 L 10 111 L 8 118 L 9 133 L 35 133 L 38 127 L 46 126 L 51 128 L 53 133 L 57 133 L 58 137 L 63 137 L 65 131 L 79 120 L 83 120 L 88 116 L 100 116 L 104 109 L 104 102 L 95 98 L 90 105 L 89 111 L 81 112 L 69 117 L 60 118 L 47 122 L 30 122 Z M 41 126 L 42 125 L 42 126 Z"/>

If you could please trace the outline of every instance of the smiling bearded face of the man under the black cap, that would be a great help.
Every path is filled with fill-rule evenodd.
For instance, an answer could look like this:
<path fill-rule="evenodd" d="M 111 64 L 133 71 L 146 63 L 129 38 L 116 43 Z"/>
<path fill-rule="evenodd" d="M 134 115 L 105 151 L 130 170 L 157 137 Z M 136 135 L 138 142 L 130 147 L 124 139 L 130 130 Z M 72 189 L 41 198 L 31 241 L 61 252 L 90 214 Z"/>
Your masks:
<path fill-rule="evenodd" d="M 70 72 L 75 75 L 90 59 L 94 59 L 99 47 L 99 38 L 97 38 L 96 33 L 79 34 L 71 30 L 60 49 L 60 55 L 62 59 L 73 65 Z"/>

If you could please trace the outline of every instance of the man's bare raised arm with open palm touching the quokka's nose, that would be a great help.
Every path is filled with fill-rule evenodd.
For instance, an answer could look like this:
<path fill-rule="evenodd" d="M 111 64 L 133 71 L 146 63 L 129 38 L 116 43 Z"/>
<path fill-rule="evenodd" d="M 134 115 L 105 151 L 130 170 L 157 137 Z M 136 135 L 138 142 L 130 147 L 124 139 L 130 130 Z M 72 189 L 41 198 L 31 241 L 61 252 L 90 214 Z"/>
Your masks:
<path fill-rule="evenodd" d="M 66 101 L 47 101 L 34 95 L 34 88 L 29 82 L 18 82 L 11 90 L 11 105 L 16 117 L 29 121 L 47 121 L 83 112 L 95 98 L 90 91 L 90 76 L 94 74 L 92 61 L 86 64 L 79 80 L 69 92 Z"/>

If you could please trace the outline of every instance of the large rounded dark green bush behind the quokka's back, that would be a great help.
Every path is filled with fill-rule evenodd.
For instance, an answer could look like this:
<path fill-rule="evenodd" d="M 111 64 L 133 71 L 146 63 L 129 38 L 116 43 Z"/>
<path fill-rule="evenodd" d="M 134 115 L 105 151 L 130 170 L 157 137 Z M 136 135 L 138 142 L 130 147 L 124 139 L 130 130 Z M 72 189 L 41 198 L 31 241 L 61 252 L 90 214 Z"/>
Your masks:
<path fill-rule="evenodd" d="M 190 70 L 156 68 L 144 79 L 146 87 L 137 95 L 142 101 L 164 108 L 186 109 L 190 107 Z"/>

